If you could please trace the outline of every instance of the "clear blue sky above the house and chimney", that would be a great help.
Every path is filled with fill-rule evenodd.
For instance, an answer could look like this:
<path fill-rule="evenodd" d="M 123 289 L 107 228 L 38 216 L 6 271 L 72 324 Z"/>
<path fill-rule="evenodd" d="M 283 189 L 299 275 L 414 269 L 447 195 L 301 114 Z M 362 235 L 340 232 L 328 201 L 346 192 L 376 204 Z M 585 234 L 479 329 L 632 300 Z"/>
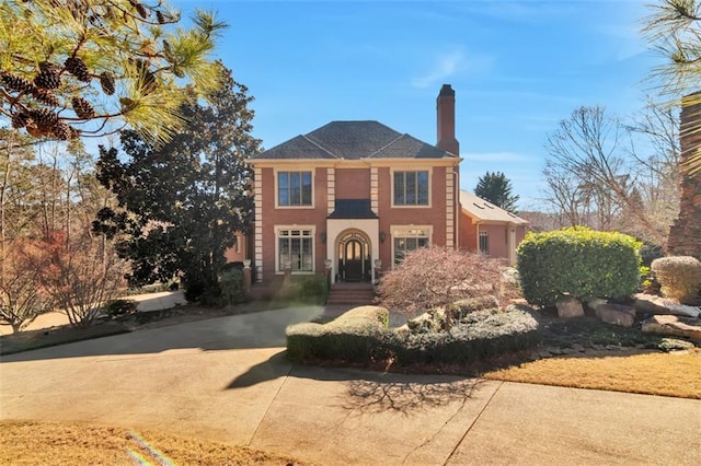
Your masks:
<path fill-rule="evenodd" d="M 436 143 L 436 96 L 456 90 L 461 188 L 501 171 L 521 210 L 542 196 L 543 143 L 582 105 L 631 115 L 660 58 L 639 0 L 174 1 L 227 22 L 216 53 L 255 97 L 269 149 L 332 120 L 375 119 Z"/>

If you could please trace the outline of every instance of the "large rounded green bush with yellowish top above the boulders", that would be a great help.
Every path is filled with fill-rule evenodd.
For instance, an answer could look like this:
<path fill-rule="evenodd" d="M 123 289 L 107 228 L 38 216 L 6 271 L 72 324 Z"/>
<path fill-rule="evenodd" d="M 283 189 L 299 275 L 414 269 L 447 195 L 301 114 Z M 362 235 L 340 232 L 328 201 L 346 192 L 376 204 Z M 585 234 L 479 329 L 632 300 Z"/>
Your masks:
<path fill-rule="evenodd" d="M 565 295 L 627 298 L 640 283 L 640 246 L 632 236 L 585 228 L 529 233 L 517 249 L 524 298 L 543 306 Z"/>

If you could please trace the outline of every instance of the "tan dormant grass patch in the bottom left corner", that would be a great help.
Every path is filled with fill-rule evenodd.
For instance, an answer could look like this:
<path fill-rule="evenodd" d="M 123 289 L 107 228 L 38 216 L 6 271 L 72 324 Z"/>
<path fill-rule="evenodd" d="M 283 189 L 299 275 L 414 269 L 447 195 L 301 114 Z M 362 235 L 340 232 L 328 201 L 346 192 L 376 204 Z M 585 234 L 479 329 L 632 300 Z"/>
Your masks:
<path fill-rule="evenodd" d="M 288 456 L 154 431 L 81 423 L 0 422 L 4 465 L 302 465 Z"/>

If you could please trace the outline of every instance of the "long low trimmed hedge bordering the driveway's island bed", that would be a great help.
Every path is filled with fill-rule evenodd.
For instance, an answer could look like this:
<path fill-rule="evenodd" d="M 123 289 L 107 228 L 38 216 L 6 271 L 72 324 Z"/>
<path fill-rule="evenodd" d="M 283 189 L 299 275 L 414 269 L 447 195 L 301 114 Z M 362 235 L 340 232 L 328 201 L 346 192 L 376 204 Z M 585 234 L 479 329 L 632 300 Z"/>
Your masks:
<path fill-rule="evenodd" d="M 290 359 L 370 362 L 394 358 L 400 364 L 466 363 L 520 351 L 540 343 L 538 321 L 526 306 L 506 312 L 476 311 L 449 331 L 398 333 L 387 328 L 383 307 L 364 306 L 325 325 L 287 328 Z"/>

